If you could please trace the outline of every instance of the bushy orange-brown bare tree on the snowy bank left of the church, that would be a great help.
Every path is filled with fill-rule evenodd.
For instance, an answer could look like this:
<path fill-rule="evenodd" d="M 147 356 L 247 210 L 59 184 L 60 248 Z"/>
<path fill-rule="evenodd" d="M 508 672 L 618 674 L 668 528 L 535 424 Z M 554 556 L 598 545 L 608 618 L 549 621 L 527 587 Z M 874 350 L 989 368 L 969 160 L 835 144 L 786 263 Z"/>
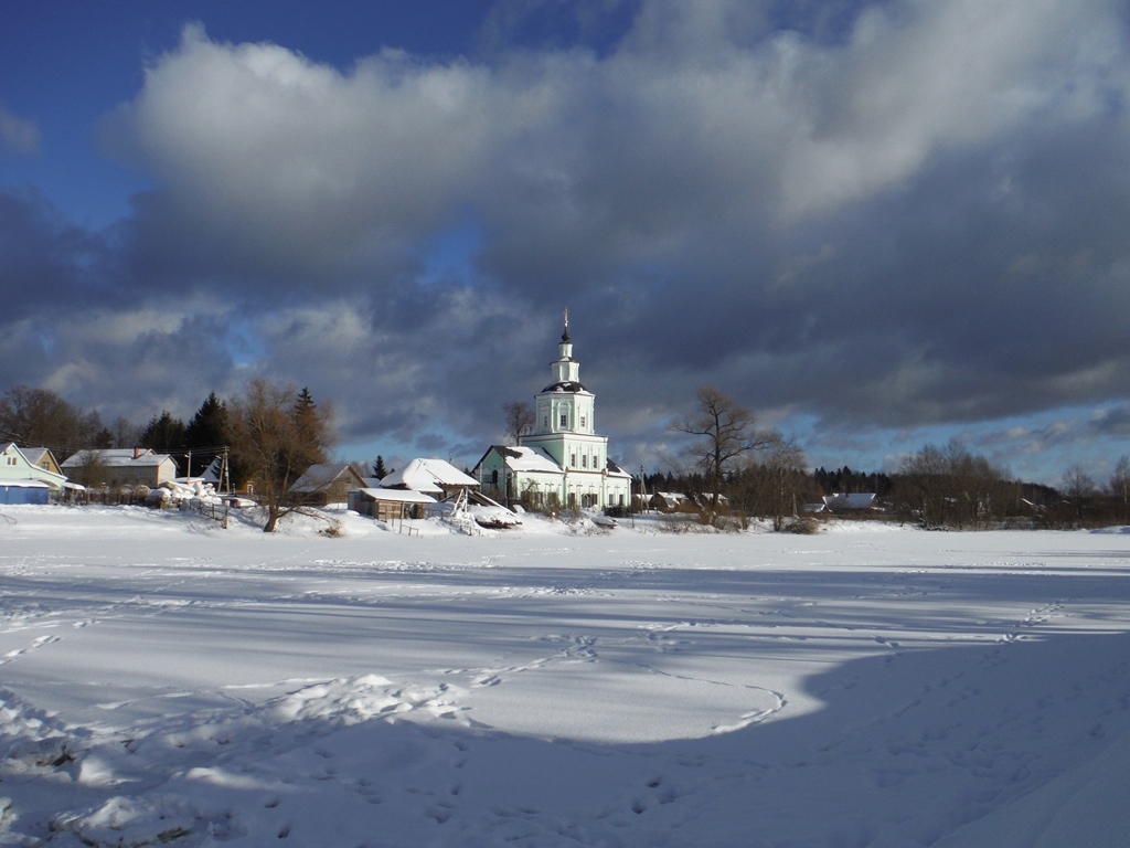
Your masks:
<path fill-rule="evenodd" d="M 310 466 L 325 461 L 330 415 L 305 389 L 299 395 L 293 386 L 263 379 L 253 380 L 246 396 L 232 403 L 232 449 L 267 510 L 263 533 L 273 533 L 279 519 L 301 505 L 290 487 Z"/>

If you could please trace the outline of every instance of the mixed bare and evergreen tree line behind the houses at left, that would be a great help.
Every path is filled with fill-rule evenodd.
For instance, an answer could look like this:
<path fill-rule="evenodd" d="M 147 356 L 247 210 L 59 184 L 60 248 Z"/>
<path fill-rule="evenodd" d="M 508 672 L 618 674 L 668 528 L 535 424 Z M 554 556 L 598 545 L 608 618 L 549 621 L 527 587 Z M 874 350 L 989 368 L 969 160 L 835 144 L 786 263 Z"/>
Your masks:
<path fill-rule="evenodd" d="M 76 407 L 47 389 L 19 386 L 0 398 L 0 440 L 50 448 L 59 461 L 86 451 L 90 461 L 80 474 L 84 485 L 97 485 L 98 452 L 149 448 L 169 455 L 181 476 L 198 476 L 221 453 L 237 487 L 247 484 L 267 513 L 263 528 L 301 505 L 290 491 L 315 464 L 324 462 L 334 442 L 333 413 L 319 406 L 310 390 L 257 378 L 246 391 L 223 400 L 210 392 L 188 423 L 166 409 L 145 425 L 118 418 L 103 424 L 97 410 Z"/>

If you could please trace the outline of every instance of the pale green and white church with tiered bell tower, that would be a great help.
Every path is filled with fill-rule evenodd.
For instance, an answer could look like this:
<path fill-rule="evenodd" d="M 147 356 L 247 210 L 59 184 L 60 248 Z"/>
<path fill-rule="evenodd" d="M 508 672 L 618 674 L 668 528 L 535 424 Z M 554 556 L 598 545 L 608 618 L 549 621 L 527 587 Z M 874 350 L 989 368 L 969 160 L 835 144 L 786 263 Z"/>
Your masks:
<path fill-rule="evenodd" d="M 480 491 L 507 505 L 532 508 L 626 508 L 632 475 L 608 458 L 608 436 L 597 434 L 596 396 L 581 383 L 565 331 L 550 364 L 551 382 L 534 397 L 533 431 L 516 447 L 495 444 L 475 467 Z"/>

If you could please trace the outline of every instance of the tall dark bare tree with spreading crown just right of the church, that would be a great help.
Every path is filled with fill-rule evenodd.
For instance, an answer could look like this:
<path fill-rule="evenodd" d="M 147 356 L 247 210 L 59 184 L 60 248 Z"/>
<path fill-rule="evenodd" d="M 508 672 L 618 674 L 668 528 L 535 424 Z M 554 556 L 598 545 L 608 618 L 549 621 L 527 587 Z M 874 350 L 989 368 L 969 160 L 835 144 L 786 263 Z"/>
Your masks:
<path fill-rule="evenodd" d="M 750 451 L 773 444 L 774 434 L 758 431 L 754 414 L 714 386 L 698 389 L 695 401 L 695 413 L 672 422 L 670 429 L 699 436 L 684 453 L 704 477 L 710 494 L 709 519 L 713 522 L 727 471 Z"/>

